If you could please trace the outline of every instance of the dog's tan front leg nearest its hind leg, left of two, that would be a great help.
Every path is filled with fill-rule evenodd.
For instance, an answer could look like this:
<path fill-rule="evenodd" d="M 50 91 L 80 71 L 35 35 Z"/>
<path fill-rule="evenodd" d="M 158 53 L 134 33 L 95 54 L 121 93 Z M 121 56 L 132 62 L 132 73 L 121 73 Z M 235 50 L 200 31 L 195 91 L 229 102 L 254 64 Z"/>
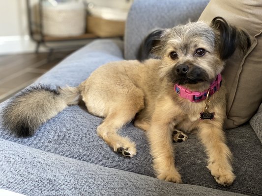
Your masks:
<path fill-rule="evenodd" d="M 153 167 L 157 178 L 165 181 L 182 183 L 181 175 L 175 168 L 172 132 L 174 129 L 175 105 L 170 98 L 157 101 L 151 120 L 151 127 L 147 131 L 153 157 Z"/>

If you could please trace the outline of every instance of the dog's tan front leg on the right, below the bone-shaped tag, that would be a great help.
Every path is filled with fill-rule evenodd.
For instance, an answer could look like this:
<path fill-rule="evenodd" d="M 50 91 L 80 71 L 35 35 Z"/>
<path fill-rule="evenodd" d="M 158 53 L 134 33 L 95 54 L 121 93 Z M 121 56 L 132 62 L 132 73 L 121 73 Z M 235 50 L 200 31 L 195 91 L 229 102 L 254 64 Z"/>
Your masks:
<path fill-rule="evenodd" d="M 208 166 L 217 183 L 229 186 L 235 175 L 231 164 L 232 153 L 225 144 L 225 134 L 220 123 L 202 123 L 199 132 L 200 139 L 206 147 Z"/>

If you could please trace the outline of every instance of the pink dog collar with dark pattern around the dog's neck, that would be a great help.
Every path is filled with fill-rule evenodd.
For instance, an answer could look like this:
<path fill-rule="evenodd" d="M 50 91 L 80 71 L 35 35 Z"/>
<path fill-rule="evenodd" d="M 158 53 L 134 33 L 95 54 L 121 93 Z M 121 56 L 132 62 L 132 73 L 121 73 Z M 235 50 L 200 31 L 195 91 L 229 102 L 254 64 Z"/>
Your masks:
<path fill-rule="evenodd" d="M 216 91 L 218 91 L 221 87 L 222 84 L 222 76 L 219 73 L 215 79 L 215 81 L 213 81 L 210 84 L 210 91 L 209 91 L 209 96 L 212 96 Z M 190 100 L 191 102 L 200 102 L 202 100 L 206 99 L 206 94 L 207 94 L 207 90 L 205 90 L 204 92 L 198 92 L 198 91 L 190 91 L 189 89 L 186 89 L 185 87 L 179 86 L 177 84 L 175 84 L 175 92 L 181 97 L 181 98 L 186 98 L 188 100 Z"/>

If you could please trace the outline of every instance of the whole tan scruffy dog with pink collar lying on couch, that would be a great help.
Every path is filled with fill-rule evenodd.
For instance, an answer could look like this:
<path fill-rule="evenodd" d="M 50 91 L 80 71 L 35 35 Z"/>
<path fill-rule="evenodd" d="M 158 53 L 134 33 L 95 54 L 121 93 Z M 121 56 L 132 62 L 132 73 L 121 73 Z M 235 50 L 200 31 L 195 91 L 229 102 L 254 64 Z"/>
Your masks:
<path fill-rule="evenodd" d="M 117 131 L 134 120 L 145 130 L 158 179 L 182 183 L 175 167 L 173 141 L 198 130 L 215 181 L 229 186 L 235 175 L 226 145 L 226 90 L 221 72 L 239 48 L 250 46 L 248 34 L 216 17 L 204 22 L 153 31 L 141 50 L 142 59 L 111 62 L 96 69 L 78 87 L 56 90 L 29 87 L 11 99 L 4 125 L 19 136 L 36 129 L 70 105 L 83 100 L 90 114 L 103 117 L 98 135 L 116 152 L 136 154 L 136 145 Z M 175 130 L 175 131 L 174 131 Z M 173 136 L 172 136 L 173 134 Z"/>

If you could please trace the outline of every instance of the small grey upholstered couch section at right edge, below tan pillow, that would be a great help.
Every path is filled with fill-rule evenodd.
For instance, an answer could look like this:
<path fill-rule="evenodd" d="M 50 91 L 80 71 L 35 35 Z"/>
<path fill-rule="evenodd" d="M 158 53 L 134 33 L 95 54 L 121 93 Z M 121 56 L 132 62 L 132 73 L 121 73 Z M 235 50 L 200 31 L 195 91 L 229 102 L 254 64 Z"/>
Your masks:
<path fill-rule="evenodd" d="M 249 123 L 262 143 L 262 103 L 257 113 L 250 119 Z"/>

